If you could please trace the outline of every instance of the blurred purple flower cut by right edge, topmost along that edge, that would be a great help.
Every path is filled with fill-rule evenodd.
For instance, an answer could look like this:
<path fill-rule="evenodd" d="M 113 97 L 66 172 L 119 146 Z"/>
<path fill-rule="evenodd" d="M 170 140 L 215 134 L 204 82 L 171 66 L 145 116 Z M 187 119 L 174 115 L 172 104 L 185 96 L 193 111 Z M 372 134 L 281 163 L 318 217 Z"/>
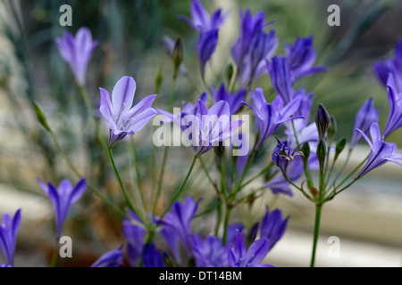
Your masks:
<path fill-rule="evenodd" d="M 374 74 L 384 86 L 388 85 L 389 73 L 395 79 L 398 91 L 402 90 L 402 40 L 398 41 L 395 55 L 392 59 L 384 59 L 373 64 Z"/>

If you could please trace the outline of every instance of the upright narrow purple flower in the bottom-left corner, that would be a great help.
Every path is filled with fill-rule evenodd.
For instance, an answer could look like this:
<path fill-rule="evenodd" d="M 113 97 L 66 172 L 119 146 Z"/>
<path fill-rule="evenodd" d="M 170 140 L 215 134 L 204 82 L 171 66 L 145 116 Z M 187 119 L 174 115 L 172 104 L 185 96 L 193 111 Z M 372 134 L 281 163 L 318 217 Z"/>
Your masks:
<path fill-rule="evenodd" d="M 4 267 L 14 266 L 15 244 L 20 224 L 21 209 L 15 212 L 13 218 L 7 213 L 4 214 L 2 224 L 0 224 L 0 249 L 2 249 L 7 261 L 7 265 L 4 265 Z"/>

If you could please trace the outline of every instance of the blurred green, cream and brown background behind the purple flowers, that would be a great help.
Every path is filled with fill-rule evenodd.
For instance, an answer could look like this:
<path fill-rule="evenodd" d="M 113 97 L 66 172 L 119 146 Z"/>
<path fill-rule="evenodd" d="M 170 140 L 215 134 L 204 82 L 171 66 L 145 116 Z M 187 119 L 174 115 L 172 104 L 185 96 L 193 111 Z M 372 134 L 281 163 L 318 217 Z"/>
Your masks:
<path fill-rule="evenodd" d="M 322 102 L 337 119 L 337 137 L 350 139 L 356 111 L 373 97 L 381 110 L 380 126 L 384 126 L 389 110 L 387 93 L 373 75 L 373 62 L 393 56 L 399 38 L 402 38 L 402 3 L 399 1 L 204 1 L 213 12 L 217 7 L 230 12 L 219 37 L 219 45 L 208 65 L 206 81 L 218 85 L 230 63 L 230 46 L 239 36 L 239 9 L 247 7 L 255 13 L 264 11 L 266 20 L 276 20 L 272 28 L 280 40 L 277 54 L 283 53 L 286 43 L 297 36 L 314 35 L 317 52 L 316 65 L 327 65 L 330 70 L 306 77 L 298 82 L 316 96 L 315 106 Z M 70 4 L 72 27 L 61 27 L 59 8 Z M 340 7 L 340 26 L 330 27 L 327 8 Z M 39 189 L 36 178 L 58 183 L 67 177 L 76 177 L 64 163 L 50 136 L 38 124 L 31 102 L 39 102 L 46 113 L 63 149 L 81 173 L 100 191 L 116 203 L 122 203 L 118 183 L 107 167 L 107 160 L 96 141 L 96 135 L 81 102 L 71 70 L 54 45 L 55 37 L 64 30 L 72 34 L 80 27 L 88 27 L 92 36 L 100 40 L 88 64 L 87 91 L 97 110 L 98 87 L 111 91 L 124 75 L 137 81 L 136 101 L 155 92 L 155 74 L 163 71 L 163 82 L 158 93 L 157 107 L 166 107 L 172 85 L 172 61 L 163 53 L 163 36 L 175 40 L 181 37 L 185 46 L 184 64 L 189 76 L 178 77 L 175 93 L 176 106 L 182 100 L 195 102 L 202 86 L 195 47 L 197 33 L 177 15 L 189 16 L 190 1 L 113 1 L 113 0 L 0 0 L 0 214 L 13 213 L 23 208 L 23 222 L 16 250 L 16 265 L 44 266 L 53 250 L 53 210 Z M 215 76 L 218 75 L 218 76 Z M 267 88 L 265 75 L 254 86 Z M 314 109 L 313 109 L 314 110 Z M 152 126 L 135 135 L 139 170 L 145 187 L 153 181 L 151 161 Z M 105 139 L 107 132 L 105 131 Z M 389 136 L 389 142 L 402 145 L 402 132 Z M 364 142 L 354 152 L 350 169 L 364 158 L 369 149 Z M 121 169 L 128 169 L 125 183 L 133 187 L 135 175 L 133 158 L 127 154 L 126 140 L 114 152 Z M 399 151 L 401 152 L 401 151 Z M 168 160 L 163 189 L 174 189 L 180 183 L 190 161 L 192 150 L 173 148 Z M 156 161 L 163 151 L 157 151 Z M 208 161 L 213 163 L 213 158 Z M 339 163 L 341 163 L 341 159 Z M 264 159 L 259 163 L 264 165 Z M 255 167 L 258 170 L 258 167 Z M 255 170 L 255 172 L 257 172 Z M 322 240 L 318 266 L 400 266 L 402 260 L 402 189 L 400 168 L 386 165 L 373 171 L 364 181 L 324 207 Z M 202 176 L 202 175 L 201 175 Z M 256 181 L 255 183 L 264 183 Z M 192 194 L 203 196 L 208 187 L 203 179 L 192 181 Z M 169 195 L 163 191 L 163 195 Z M 234 218 L 247 224 L 261 216 L 264 205 L 272 202 L 267 193 L 257 205 L 246 210 L 248 215 L 235 213 Z M 314 206 L 295 191 L 293 198 L 280 198 L 275 207 L 290 215 L 289 229 L 283 240 L 272 249 L 267 261 L 278 266 L 306 266 L 310 258 Z M 241 208 L 240 208 L 241 210 Z M 236 214 L 238 214 L 236 216 Z M 92 193 L 84 195 L 71 209 L 64 234 L 74 243 L 72 260 L 61 260 L 60 265 L 90 265 L 105 250 L 121 243 L 120 216 L 107 208 Z M 328 237 L 340 240 L 340 255 L 329 257 Z M 80 256 L 80 257 L 79 257 Z M 4 261 L 0 256 L 0 262 Z"/>

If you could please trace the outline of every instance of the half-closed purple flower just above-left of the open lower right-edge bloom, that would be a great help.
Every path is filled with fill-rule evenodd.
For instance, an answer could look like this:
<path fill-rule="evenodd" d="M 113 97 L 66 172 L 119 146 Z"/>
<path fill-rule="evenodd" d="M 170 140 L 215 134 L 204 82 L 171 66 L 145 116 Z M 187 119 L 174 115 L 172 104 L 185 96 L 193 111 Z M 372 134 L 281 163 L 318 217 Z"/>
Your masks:
<path fill-rule="evenodd" d="M 370 98 L 364 102 L 362 108 L 358 110 L 355 118 L 355 126 L 360 129 L 364 134 L 368 134 L 370 131 L 370 126 L 373 123 L 377 123 L 380 116 L 380 110 L 375 110 L 373 98 Z M 349 144 L 349 149 L 353 149 L 357 142 L 362 139 L 362 135 L 358 132 L 353 132 L 352 139 Z"/>

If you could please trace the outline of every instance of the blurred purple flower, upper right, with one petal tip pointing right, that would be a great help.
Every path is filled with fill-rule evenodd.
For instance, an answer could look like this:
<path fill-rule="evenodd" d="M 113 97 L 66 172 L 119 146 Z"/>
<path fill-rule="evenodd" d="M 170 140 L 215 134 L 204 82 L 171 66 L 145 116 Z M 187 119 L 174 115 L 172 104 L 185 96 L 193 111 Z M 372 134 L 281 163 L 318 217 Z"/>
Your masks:
<path fill-rule="evenodd" d="M 293 45 L 286 45 L 285 54 L 295 80 L 327 69 L 325 66 L 313 67 L 316 57 L 313 36 L 297 37 Z"/>

